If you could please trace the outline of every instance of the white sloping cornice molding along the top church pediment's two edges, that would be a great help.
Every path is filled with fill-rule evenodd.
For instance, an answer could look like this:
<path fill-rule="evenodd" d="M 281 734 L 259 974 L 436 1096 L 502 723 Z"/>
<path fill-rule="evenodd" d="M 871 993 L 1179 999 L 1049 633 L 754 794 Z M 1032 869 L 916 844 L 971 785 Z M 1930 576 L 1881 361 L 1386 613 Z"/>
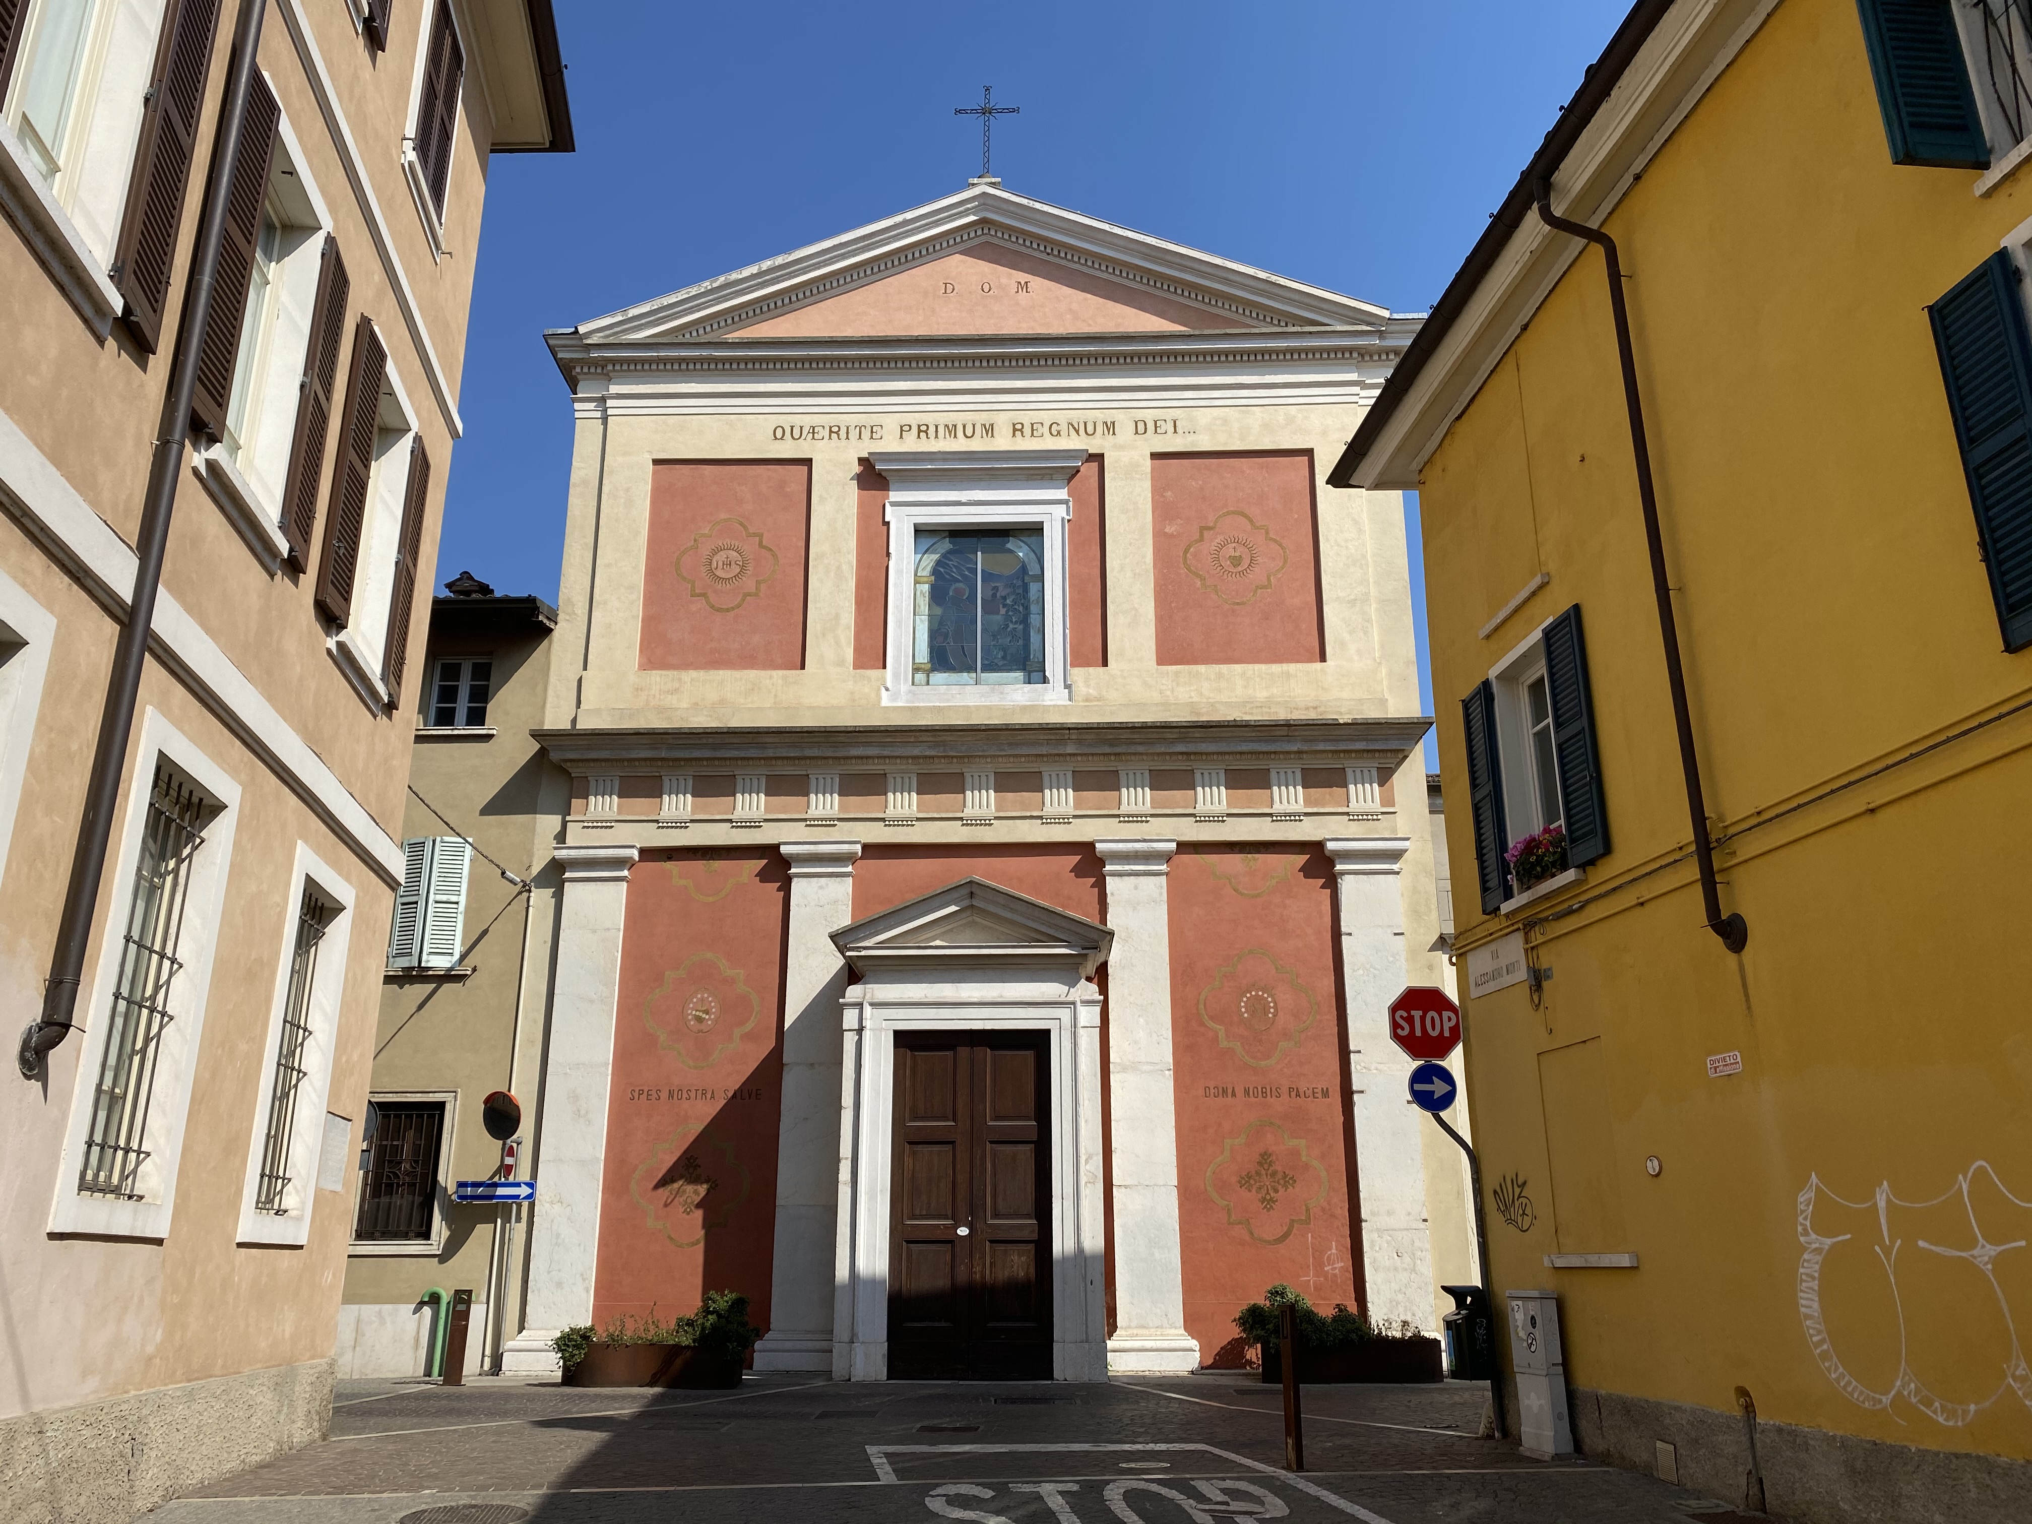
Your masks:
<path fill-rule="evenodd" d="M 723 333 L 788 307 L 837 295 L 918 258 L 996 238 L 1028 254 L 1075 264 L 1166 297 L 1227 311 L 1266 327 L 1370 327 L 1390 311 L 1323 287 L 1223 260 L 1099 217 L 1034 201 L 998 185 L 963 191 L 732 270 L 666 297 L 581 323 L 593 341 Z"/>

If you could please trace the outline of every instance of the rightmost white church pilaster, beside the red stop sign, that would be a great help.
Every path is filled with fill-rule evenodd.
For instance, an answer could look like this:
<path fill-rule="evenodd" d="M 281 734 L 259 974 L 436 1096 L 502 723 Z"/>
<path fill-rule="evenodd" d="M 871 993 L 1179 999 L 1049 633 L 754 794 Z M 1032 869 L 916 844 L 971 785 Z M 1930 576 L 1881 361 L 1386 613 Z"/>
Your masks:
<path fill-rule="evenodd" d="M 1341 837 L 1333 858 L 1341 933 L 1341 1002 L 1353 1075 L 1361 1268 L 1370 1319 L 1433 1321 L 1433 1240 L 1424 1217 L 1424 1148 L 1410 1103 L 1410 1059 L 1390 1040 L 1390 1002 L 1404 963 L 1406 837 Z"/>

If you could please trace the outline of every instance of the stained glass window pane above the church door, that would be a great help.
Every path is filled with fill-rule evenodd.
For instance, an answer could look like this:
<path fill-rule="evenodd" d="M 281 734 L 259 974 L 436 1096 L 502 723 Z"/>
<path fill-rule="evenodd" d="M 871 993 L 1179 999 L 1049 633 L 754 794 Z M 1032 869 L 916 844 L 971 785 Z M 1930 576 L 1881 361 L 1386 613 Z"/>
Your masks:
<path fill-rule="evenodd" d="M 916 532 L 910 683 L 1044 683 L 1042 530 Z"/>

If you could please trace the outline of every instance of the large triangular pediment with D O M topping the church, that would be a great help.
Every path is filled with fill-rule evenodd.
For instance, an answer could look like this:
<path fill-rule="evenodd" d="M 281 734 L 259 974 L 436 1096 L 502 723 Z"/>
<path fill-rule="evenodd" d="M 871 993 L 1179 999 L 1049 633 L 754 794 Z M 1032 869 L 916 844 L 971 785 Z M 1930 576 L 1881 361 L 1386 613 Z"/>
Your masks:
<path fill-rule="evenodd" d="M 998 185 L 969 185 L 896 217 L 581 323 L 577 337 L 644 343 L 1382 329 L 1388 317 L 1374 303 Z"/>

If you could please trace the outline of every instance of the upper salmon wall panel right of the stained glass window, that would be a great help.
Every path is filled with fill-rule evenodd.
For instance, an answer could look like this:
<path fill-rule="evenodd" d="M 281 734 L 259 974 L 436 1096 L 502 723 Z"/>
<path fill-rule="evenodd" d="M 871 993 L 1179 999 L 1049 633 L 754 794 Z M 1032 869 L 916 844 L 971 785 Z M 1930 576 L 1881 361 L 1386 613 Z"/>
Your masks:
<path fill-rule="evenodd" d="M 1313 453 L 1152 455 L 1160 666 L 1325 660 Z"/>

